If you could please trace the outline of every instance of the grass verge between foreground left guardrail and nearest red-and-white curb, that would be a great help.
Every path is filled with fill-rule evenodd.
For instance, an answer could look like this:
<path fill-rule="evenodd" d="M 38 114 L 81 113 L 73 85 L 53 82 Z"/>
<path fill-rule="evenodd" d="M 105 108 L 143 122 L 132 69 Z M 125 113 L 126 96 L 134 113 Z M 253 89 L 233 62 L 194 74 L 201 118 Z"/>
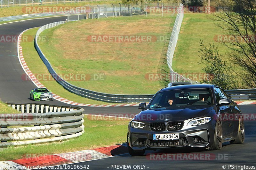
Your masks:
<path fill-rule="evenodd" d="M 86 115 L 84 120 L 84 134 L 78 138 L 50 144 L 9 147 L 0 151 L 0 161 L 81 151 L 126 142 L 129 120 L 97 120 Z"/>

